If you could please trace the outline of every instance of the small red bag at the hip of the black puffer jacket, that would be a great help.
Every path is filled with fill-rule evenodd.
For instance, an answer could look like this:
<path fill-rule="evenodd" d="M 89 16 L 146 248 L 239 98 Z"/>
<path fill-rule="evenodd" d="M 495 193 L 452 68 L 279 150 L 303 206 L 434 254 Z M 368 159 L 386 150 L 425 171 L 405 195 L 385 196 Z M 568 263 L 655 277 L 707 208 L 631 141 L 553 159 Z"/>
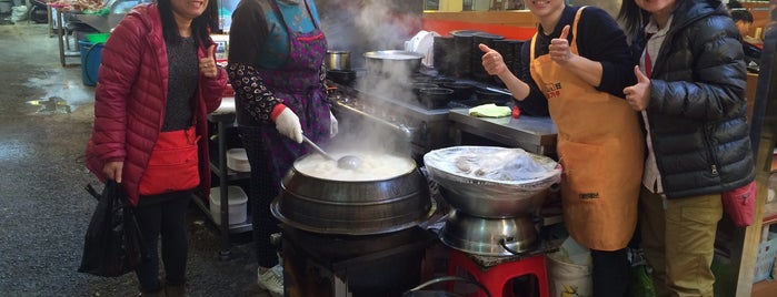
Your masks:
<path fill-rule="evenodd" d="M 756 181 L 735 190 L 724 192 L 720 195 L 723 208 L 735 225 L 747 227 L 753 224 L 756 213 L 756 194 L 758 187 Z"/>

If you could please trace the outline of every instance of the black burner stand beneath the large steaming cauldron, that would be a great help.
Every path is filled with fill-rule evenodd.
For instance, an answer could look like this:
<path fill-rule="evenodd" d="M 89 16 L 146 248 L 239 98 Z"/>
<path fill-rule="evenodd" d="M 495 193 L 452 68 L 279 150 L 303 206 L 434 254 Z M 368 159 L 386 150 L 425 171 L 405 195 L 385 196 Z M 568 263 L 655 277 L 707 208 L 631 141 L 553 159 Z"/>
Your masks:
<path fill-rule="evenodd" d="M 399 296 L 421 280 L 436 237 L 414 227 L 382 235 L 328 236 L 283 231 L 283 278 L 300 296 Z"/>

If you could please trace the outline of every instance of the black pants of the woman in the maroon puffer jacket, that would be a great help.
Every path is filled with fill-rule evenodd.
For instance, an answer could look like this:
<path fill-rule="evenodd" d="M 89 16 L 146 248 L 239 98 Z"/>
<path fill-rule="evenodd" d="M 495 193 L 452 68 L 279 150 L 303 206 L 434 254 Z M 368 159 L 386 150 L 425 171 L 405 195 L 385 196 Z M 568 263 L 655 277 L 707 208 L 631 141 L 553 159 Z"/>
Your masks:
<path fill-rule="evenodd" d="M 177 192 L 153 197 L 140 197 L 136 208 L 138 225 L 143 235 L 150 260 L 135 273 L 145 293 L 161 289 L 159 283 L 159 237 L 162 238 L 165 280 L 170 285 L 186 283 L 187 223 L 186 214 L 192 193 Z"/>

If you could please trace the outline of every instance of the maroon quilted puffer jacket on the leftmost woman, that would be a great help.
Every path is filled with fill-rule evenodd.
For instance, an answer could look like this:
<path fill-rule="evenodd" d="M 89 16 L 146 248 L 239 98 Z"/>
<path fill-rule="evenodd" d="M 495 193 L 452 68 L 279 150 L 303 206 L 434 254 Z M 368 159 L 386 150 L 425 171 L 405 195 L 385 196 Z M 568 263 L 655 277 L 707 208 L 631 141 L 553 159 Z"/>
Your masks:
<path fill-rule="evenodd" d="M 209 40 L 212 43 L 212 40 Z M 200 45 L 198 57 L 207 54 Z M 210 191 L 206 115 L 221 104 L 227 84 L 225 70 L 218 79 L 199 78 L 195 110 L 200 135 L 200 188 Z M 138 204 L 140 178 L 165 120 L 168 60 L 156 4 L 132 9 L 111 32 L 101 53 L 94 90 L 94 127 L 87 144 L 86 165 L 100 181 L 107 162 L 123 161 L 122 185 L 130 202 Z"/>

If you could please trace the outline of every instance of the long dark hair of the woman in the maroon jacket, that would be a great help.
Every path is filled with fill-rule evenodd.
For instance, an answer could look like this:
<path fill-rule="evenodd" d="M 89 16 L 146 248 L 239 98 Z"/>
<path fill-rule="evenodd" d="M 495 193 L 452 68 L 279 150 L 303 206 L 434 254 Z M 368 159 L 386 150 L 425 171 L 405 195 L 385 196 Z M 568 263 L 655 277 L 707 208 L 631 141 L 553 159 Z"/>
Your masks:
<path fill-rule="evenodd" d="M 162 35 L 165 42 L 179 42 L 181 35 L 178 32 L 178 24 L 172 17 L 172 6 L 170 0 L 157 0 L 159 7 L 159 16 L 162 19 Z M 191 21 L 191 35 L 195 38 L 195 44 L 205 43 L 210 39 L 210 30 L 219 25 L 218 1 L 208 0 L 208 7 L 199 17 Z M 207 45 L 207 44 L 206 44 Z"/>

